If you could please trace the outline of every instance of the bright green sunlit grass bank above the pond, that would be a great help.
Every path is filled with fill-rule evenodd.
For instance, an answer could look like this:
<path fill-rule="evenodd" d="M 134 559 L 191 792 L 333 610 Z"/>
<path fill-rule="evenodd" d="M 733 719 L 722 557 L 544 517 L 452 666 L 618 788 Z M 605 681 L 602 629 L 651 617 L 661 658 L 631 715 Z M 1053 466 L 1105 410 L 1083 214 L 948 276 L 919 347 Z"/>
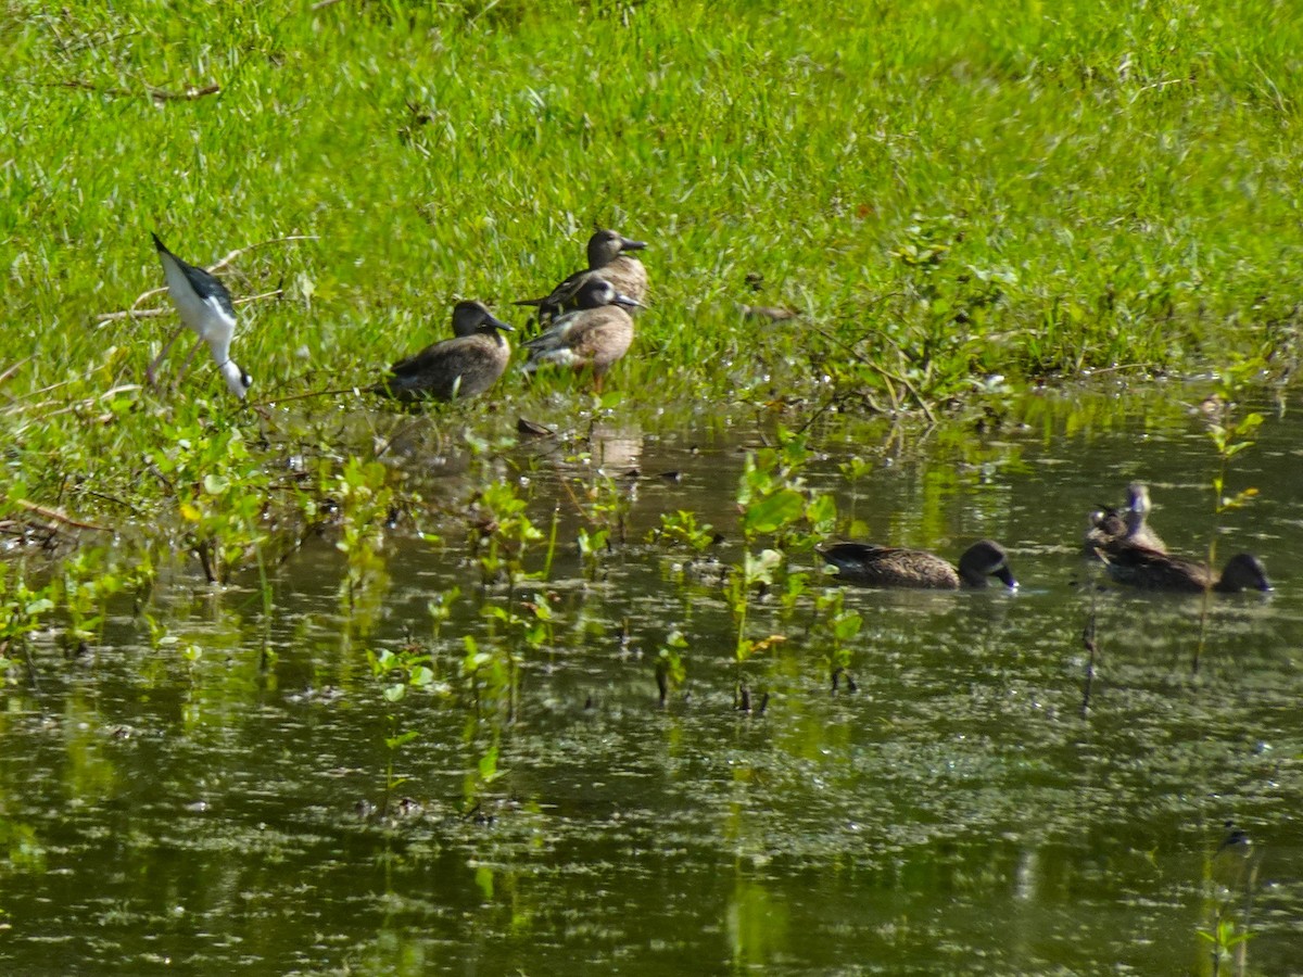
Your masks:
<path fill-rule="evenodd" d="M 103 396 L 173 324 L 96 324 L 162 284 L 151 229 L 202 263 L 315 236 L 235 263 L 237 297 L 285 290 L 241 313 L 259 401 L 371 382 L 459 297 L 523 323 L 507 302 L 581 266 L 594 225 L 652 245 L 620 410 L 645 388 L 936 408 L 995 373 L 1296 358 L 1294 4 L 305 7 L 4 5 L 10 494 L 150 495 L 141 459 L 177 427 L 249 417 L 206 361 L 184 397 Z M 741 322 L 743 301 L 804 326 Z M 554 384 L 580 401 L 512 373 L 485 423 L 555 413 Z M 358 409 L 335 403 L 296 436 L 328 442 Z"/>

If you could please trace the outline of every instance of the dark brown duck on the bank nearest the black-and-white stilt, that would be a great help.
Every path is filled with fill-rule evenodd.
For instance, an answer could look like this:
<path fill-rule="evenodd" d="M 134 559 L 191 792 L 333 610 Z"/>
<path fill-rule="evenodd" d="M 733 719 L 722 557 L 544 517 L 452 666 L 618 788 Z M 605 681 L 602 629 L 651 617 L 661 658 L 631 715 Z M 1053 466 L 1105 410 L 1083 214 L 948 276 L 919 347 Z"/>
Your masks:
<path fill-rule="evenodd" d="M 370 388 L 401 401 L 455 400 L 483 393 L 502 376 L 511 360 L 511 347 L 499 330 L 512 327 L 480 302 L 457 302 L 452 331 L 446 339 L 390 367 L 390 378 Z"/>

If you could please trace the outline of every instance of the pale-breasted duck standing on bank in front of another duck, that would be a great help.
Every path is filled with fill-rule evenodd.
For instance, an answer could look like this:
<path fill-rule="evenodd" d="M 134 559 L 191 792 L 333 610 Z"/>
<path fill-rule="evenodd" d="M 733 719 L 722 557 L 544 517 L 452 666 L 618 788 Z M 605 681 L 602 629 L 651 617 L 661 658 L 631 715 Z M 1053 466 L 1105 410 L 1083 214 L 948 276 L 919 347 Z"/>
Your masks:
<path fill-rule="evenodd" d="M 588 279 L 575 300 L 580 306 L 576 311 L 555 319 L 545 332 L 523 344 L 529 350 L 524 369 L 533 373 L 542 363 L 590 366 L 601 387 L 602 375 L 633 341 L 633 319 L 624 309 L 640 309 L 642 304 L 616 292 L 601 277 Z"/>

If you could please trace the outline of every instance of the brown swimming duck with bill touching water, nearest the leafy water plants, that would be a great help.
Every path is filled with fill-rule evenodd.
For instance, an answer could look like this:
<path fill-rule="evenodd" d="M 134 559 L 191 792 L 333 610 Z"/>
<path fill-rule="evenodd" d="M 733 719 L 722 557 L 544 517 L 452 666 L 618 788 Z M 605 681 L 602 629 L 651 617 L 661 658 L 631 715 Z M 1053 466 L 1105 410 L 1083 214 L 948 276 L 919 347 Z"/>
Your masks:
<path fill-rule="evenodd" d="M 838 580 L 874 588 L 958 590 L 985 588 L 988 577 L 1014 589 L 1018 581 L 999 543 L 982 539 L 959 558 L 959 568 L 924 550 L 899 550 L 872 543 L 837 543 L 820 555 L 837 567 Z"/>

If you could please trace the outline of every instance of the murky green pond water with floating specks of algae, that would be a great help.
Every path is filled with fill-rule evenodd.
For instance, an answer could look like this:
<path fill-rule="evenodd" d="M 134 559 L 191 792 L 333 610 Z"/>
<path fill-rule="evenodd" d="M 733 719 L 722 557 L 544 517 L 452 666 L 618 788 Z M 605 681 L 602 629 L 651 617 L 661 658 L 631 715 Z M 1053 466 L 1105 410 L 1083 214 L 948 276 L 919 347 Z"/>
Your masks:
<path fill-rule="evenodd" d="M 463 671 L 466 634 L 513 640 L 482 614 L 508 597 L 477 586 L 455 518 L 442 545 L 403 521 L 352 597 L 322 539 L 275 573 L 270 616 L 254 574 L 225 591 L 179 576 L 149 607 L 164 644 L 130 607 L 86 654 L 38 642 L 0 718 L 0 968 L 1212 973 L 1200 931 L 1225 898 L 1209 875 L 1237 881 L 1213 857 L 1233 818 L 1253 840 L 1253 883 L 1222 912 L 1243 931 L 1247 907 L 1240 963 L 1298 972 L 1299 414 L 1235 457 L 1231 486 L 1260 495 L 1218 537 L 1224 556 L 1259 552 L 1277 590 L 1214 601 L 1201 647 L 1197 599 L 1101 588 L 1078 556 L 1085 513 L 1131 479 L 1173 548 L 1207 547 L 1217 462 L 1182 396 L 1046 396 L 903 439 L 813 429 L 808 478 L 843 528 L 951 559 L 992 537 L 1022 581 L 848 591 L 853 692 L 831 690 L 810 601 L 770 598 L 751 632 L 787 640 L 747 663 L 767 701 L 739 711 L 711 568 L 645 541 L 691 509 L 726 537 L 713 555 L 740 559 L 743 448 L 766 425 L 719 418 L 598 426 L 589 464 L 546 440 L 489 462 L 526 477 L 545 533 L 560 512 L 549 578 L 516 594 L 550 607 L 550 630 L 507 690 Z M 394 462 L 459 507 L 481 462 L 426 447 Z M 872 462 L 853 487 L 852 455 Z M 602 462 L 632 504 L 594 569 L 575 512 Z M 435 637 L 427 603 L 452 585 Z M 687 683 L 661 707 L 674 629 Z M 408 642 L 433 649 L 435 681 L 391 703 L 365 653 Z M 387 792 L 391 762 L 405 782 Z"/>

